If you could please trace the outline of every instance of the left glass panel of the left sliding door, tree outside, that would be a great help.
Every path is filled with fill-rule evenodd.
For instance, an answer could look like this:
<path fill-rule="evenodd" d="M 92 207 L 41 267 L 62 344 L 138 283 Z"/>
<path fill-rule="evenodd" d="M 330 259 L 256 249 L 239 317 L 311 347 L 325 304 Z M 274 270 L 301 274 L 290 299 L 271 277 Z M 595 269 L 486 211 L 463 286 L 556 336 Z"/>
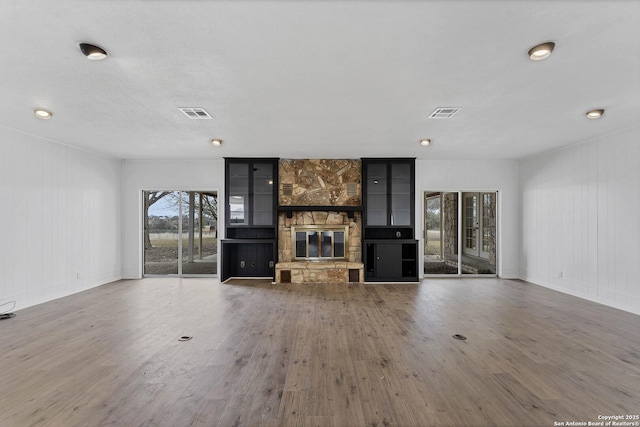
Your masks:
<path fill-rule="evenodd" d="M 144 274 L 178 274 L 179 191 L 145 191 Z"/>

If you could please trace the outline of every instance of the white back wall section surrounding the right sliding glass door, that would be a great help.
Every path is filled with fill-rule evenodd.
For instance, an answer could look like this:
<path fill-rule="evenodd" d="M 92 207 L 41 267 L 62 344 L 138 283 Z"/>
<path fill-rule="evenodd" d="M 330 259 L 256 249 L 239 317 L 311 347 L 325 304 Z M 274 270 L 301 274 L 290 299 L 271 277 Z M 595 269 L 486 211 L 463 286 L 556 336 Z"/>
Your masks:
<path fill-rule="evenodd" d="M 424 191 L 498 191 L 498 276 L 517 278 L 520 248 L 518 162 L 417 160 L 416 237 L 424 247 Z M 421 250 L 421 262 L 424 251 Z M 422 265 L 422 264 L 420 264 Z"/>

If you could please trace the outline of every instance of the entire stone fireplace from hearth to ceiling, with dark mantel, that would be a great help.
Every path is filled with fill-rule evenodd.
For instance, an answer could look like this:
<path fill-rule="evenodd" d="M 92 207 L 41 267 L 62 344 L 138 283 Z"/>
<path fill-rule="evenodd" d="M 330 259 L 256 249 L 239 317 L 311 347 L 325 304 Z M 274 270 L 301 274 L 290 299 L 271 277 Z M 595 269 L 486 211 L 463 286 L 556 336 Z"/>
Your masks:
<path fill-rule="evenodd" d="M 280 160 L 276 283 L 363 282 L 360 160 Z"/>

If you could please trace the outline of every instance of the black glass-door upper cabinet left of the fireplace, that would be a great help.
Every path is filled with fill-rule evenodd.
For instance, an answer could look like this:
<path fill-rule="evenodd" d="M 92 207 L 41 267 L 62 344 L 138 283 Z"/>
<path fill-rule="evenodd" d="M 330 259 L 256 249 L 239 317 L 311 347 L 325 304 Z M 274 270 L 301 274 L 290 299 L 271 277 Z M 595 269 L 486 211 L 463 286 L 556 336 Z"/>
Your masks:
<path fill-rule="evenodd" d="M 225 162 L 227 237 L 274 238 L 278 159 L 228 158 Z"/>

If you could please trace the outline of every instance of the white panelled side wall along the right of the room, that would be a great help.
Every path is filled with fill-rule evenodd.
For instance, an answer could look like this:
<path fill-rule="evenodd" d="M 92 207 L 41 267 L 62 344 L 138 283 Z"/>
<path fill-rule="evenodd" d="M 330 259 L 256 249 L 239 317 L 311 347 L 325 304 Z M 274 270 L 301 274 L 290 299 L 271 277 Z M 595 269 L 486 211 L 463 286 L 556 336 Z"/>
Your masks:
<path fill-rule="evenodd" d="M 520 276 L 640 314 L 640 131 L 521 163 Z"/>

